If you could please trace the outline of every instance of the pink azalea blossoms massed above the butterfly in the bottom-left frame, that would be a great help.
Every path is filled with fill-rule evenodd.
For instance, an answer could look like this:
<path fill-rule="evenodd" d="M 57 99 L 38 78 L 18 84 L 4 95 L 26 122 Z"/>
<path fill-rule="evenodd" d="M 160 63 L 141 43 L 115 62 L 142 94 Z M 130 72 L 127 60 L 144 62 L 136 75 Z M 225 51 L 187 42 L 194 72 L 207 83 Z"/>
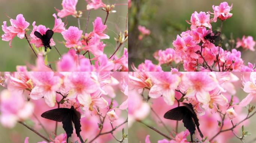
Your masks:
<path fill-rule="evenodd" d="M 119 93 L 115 91 L 124 90 L 123 88 L 128 90 L 128 75 L 125 72 L 6 72 L 1 79 L 6 83 L 4 87 L 7 87 L 0 94 L 0 123 L 5 127 L 12 128 L 17 121 L 30 118 L 34 108 L 37 108 L 35 115 L 39 116 L 48 109 L 56 108 L 56 102 L 63 98 L 60 94 L 67 96 L 65 104 L 80 105 L 82 110 L 77 110 L 88 117 L 92 114 L 98 119 L 97 112 L 100 108 L 100 112 L 106 114 L 109 121 L 117 124 L 124 121 L 124 118 L 119 117 L 122 110 L 127 109 L 124 103 L 114 100 L 113 109 L 107 112 L 107 108 L 110 98 L 115 99 L 115 94 Z M 125 91 L 125 94 L 127 92 Z M 118 105 L 122 105 L 122 109 L 116 108 Z M 36 118 L 32 120 L 37 123 Z M 91 122 L 97 126 L 94 120 Z M 45 119 L 42 122 L 49 124 L 49 130 L 54 127 L 51 124 L 54 121 L 49 123 L 49 120 Z M 110 130 L 111 126 L 107 126 Z M 98 132 L 97 129 L 98 127 L 94 134 Z"/>

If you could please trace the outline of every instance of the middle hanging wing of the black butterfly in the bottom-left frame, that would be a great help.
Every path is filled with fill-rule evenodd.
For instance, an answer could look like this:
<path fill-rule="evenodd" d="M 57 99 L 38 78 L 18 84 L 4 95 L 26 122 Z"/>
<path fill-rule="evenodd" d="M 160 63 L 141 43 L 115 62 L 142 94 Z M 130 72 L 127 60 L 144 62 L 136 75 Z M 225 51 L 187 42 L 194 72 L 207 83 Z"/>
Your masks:
<path fill-rule="evenodd" d="M 67 142 L 68 142 L 68 138 L 71 137 L 72 133 L 73 133 L 73 125 L 72 125 L 72 112 L 68 112 L 67 116 L 65 116 L 63 118 L 62 124 L 63 124 L 63 128 L 67 134 Z"/>

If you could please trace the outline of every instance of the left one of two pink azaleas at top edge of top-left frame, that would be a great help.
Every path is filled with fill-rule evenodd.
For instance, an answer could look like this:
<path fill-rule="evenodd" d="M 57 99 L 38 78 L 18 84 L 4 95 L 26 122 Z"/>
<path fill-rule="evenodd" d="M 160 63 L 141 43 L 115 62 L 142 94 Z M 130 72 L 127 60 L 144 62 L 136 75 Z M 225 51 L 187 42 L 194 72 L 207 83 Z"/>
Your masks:
<path fill-rule="evenodd" d="M 76 4 L 77 4 L 78 0 L 63 0 L 62 1 L 62 10 L 58 10 L 56 9 L 56 11 L 58 12 L 58 16 L 60 18 L 64 18 L 68 15 L 74 15 L 76 14 Z"/>

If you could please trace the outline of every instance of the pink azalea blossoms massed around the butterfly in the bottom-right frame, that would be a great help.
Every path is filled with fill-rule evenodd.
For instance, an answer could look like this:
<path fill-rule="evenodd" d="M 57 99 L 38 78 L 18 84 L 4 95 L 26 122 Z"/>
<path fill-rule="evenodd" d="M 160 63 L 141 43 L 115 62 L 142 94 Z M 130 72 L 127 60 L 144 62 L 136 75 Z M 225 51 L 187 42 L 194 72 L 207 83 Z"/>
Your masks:
<path fill-rule="evenodd" d="M 248 74 L 250 74 L 249 79 Z M 229 72 L 131 72 L 129 73 L 129 96 L 132 96 L 132 100 L 129 100 L 128 104 L 128 117 L 132 120 L 129 127 L 132 127 L 135 120 L 149 120 L 147 116 L 150 115 L 160 127 L 163 125 L 158 122 L 159 118 L 164 124 L 175 128 L 176 121 L 167 120 L 163 115 L 168 109 L 178 106 L 176 99 L 183 98 L 182 102 L 194 105 L 200 129 L 204 136 L 211 139 L 220 130 L 217 125 L 217 121 L 222 120 L 219 112 L 226 114 L 223 129 L 231 128 L 230 120 L 233 124 L 243 120 L 246 114 L 242 112 L 242 107 L 252 102 L 255 96 L 255 79 L 253 79 L 256 77 L 255 74 L 252 72 L 236 75 Z M 244 80 L 244 92 L 249 95 L 240 102 L 235 95 L 237 86 L 242 84 L 242 80 Z M 232 105 L 229 105 L 231 100 Z M 158 117 L 153 112 L 149 113 L 149 105 Z M 134 107 L 137 107 L 137 110 Z M 244 125 L 248 123 L 249 121 L 243 122 Z M 240 127 L 241 124 L 234 128 L 234 131 L 238 132 Z M 158 140 L 158 143 L 186 143 L 188 134 L 188 130 L 182 131 L 175 137 L 170 136 L 171 140 Z M 197 136 L 199 136 L 198 133 L 196 133 Z M 232 137 L 234 134 L 225 132 L 211 142 L 228 142 Z M 146 137 L 145 142 L 150 143 L 149 136 Z M 205 140 L 206 142 L 208 140 Z"/>

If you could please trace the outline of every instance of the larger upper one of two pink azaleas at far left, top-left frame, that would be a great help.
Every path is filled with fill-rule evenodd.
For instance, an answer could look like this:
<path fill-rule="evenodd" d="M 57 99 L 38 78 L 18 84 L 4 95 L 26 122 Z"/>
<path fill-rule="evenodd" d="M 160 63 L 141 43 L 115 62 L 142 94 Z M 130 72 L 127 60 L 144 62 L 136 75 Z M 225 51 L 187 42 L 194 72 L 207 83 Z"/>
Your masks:
<path fill-rule="evenodd" d="M 17 36 L 21 39 L 25 36 L 25 29 L 28 28 L 29 23 L 25 21 L 25 18 L 22 14 L 17 15 L 16 19 L 10 19 L 10 32 L 16 33 Z"/>

